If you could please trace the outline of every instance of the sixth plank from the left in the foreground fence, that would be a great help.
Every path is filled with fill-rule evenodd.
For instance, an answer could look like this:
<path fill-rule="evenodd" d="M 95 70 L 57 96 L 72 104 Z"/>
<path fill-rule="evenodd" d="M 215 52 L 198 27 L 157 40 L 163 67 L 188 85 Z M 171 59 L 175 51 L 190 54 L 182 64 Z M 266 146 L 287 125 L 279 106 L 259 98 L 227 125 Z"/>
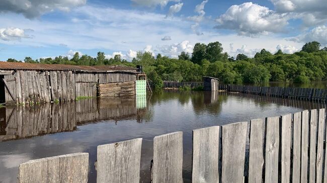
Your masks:
<path fill-rule="evenodd" d="M 250 122 L 249 182 L 263 182 L 264 166 L 264 123 L 262 119 Z"/>

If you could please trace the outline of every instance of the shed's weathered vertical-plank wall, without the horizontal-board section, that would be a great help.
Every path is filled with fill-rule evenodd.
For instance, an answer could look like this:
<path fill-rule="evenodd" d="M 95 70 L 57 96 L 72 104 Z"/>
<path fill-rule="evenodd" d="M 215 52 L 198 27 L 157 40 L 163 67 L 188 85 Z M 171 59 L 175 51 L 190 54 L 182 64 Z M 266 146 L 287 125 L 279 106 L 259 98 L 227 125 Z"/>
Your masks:
<path fill-rule="evenodd" d="M 96 97 L 98 84 L 136 81 L 135 73 L 18 70 L 4 76 L 6 104 L 67 102 Z"/>

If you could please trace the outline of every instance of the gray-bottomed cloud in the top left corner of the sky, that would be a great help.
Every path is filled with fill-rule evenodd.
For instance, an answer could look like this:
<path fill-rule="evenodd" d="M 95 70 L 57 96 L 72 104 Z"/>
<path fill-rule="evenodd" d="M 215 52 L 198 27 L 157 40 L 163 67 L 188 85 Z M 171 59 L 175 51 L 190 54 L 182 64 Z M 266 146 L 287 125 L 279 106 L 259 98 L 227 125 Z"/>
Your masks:
<path fill-rule="evenodd" d="M 23 14 L 26 18 L 39 17 L 54 10 L 69 11 L 85 5 L 87 0 L 2 0 L 0 12 Z"/>

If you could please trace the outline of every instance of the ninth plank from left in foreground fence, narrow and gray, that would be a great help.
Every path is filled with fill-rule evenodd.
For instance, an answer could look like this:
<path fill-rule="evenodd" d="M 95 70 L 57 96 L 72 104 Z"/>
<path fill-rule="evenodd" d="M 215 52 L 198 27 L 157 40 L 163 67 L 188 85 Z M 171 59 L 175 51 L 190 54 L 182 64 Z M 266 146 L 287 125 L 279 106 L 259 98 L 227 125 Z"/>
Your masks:
<path fill-rule="evenodd" d="M 297 112 L 293 116 L 293 171 L 292 182 L 299 183 L 301 176 L 301 112 Z"/>

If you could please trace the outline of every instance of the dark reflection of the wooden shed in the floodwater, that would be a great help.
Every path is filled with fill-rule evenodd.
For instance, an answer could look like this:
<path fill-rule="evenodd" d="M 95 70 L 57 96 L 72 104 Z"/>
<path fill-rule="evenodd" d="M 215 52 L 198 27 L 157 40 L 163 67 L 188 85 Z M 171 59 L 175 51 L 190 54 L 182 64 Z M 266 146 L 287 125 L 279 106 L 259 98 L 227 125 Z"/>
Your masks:
<path fill-rule="evenodd" d="M 137 102 L 146 104 L 146 97 L 112 97 L 1 108 L 0 141 L 74 131 L 77 125 L 102 120 L 134 119 L 140 123 L 143 116 L 149 115 L 145 115 L 146 105 L 137 109 Z"/>

